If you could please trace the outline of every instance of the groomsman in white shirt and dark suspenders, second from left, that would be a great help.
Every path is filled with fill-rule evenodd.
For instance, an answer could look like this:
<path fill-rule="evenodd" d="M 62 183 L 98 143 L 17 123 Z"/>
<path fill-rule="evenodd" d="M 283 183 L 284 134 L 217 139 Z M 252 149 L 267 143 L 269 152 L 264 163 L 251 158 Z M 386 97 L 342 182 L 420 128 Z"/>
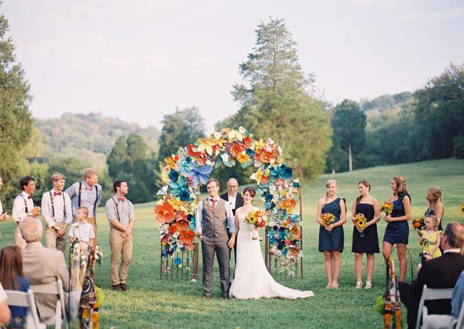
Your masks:
<path fill-rule="evenodd" d="M 66 250 L 66 228 L 73 221 L 71 198 L 64 193 L 66 177 L 62 173 L 51 176 L 53 188 L 42 196 L 42 218 L 46 223 L 46 248 Z"/>

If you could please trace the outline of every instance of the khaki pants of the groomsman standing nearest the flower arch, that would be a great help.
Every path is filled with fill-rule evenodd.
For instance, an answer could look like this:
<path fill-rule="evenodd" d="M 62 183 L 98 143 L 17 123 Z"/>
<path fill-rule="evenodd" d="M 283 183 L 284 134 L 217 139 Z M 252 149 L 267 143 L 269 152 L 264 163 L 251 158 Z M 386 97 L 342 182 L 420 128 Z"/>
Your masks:
<path fill-rule="evenodd" d="M 111 247 L 111 285 L 126 283 L 129 266 L 132 260 L 132 235 L 127 238 L 121 236 L 121 231 L 111 228 L 109 231 L 109 246 Z M 119 263 L 122 256 L 121 269 Z"/>

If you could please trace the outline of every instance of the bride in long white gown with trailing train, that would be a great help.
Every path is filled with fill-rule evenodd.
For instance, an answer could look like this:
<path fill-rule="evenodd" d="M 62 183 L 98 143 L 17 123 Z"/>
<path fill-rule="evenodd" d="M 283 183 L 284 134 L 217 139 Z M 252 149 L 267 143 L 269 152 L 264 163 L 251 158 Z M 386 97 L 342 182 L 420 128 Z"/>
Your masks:
<path fill-rule="evenodd" d="M 236 210 L 237 264 L 235 278 L 229 292 L 231 297 L 238 299 L 261 297 L 296 299 L 313 296 L 312 291 L 295 290 L 276 283 L 268 272 L 261 254 L 259 239 L 253 240 L 254 228 L 245 221 L 248 213 L 258 210 L 251 204 L 255 193 L 253 188 L 245 188 L 243 191 L 244 205 Z"/>

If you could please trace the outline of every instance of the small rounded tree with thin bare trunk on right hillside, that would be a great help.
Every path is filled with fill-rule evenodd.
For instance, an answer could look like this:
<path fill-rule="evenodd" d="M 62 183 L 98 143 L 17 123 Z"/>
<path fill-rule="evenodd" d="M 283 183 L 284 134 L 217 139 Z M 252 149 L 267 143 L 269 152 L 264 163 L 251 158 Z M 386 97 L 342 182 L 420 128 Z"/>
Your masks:
<path fill-rule="evenodd" d="M 353 151 L 365 144 L 365 124 L 365 114 L 354 101 L 345 99 L 333 111 L 333 144 L 348 152 L 349 171 L 353 171 Z"/>

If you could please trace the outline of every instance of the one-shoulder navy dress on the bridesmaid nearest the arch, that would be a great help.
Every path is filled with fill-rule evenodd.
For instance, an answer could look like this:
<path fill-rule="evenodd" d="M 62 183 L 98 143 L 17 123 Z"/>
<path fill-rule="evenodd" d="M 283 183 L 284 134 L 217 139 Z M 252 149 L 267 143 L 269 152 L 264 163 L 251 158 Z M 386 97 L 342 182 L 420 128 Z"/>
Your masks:
<path fill-rule="evenodd" d="M 331 213 L 335 216 L 335 221 L 333 223 L 340 221 L 340 201 L 341 198 L 336 198 L 334 201 L 327 203 L 322 208 L 322 213 Z M 331 233 L 328 233 L 328 231 L 326 231 L 326 227 L 321 225 L 319 228 L 319 251 L 338 250 L 342 253 L 343 244 L 343 225 L 333 228 Z"/>

